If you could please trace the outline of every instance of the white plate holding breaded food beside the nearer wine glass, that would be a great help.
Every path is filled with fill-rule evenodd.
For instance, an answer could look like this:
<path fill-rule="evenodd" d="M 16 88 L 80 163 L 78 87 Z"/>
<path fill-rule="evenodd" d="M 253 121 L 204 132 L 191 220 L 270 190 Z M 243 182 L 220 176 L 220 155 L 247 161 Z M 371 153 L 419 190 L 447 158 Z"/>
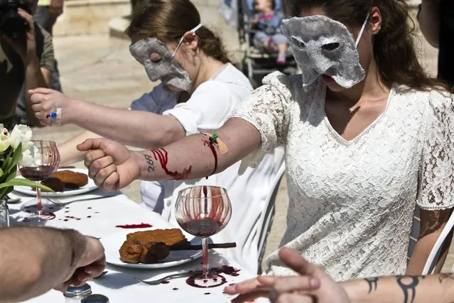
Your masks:
<path fill-rule="evenodd" d="M 162 228 L 162 227 L 161 227 Z M 181 265 L 202 256 L 202 250 L 171 250 L 170 255 L 166 259 L 160 260 L 158 263 L 153 264 L 131 264 L 125 263 L 120 260 L 120 248 L 126 241 L 126 235 L 128 233 L 134 233 L 142 230 L 153 230 L 158 228 L 141 228 L 137 230 L 124 230 L 120 233 L 114 233 L 107 237 L 101 238 L 100 241 L 104 246 L 104 252 L 106 254 L 106 262 L 112 265 L 129 268 L 141 268 L 141 269 L 152 269 L 152 268 L 164 268 Z M 201 245 L 202 238 L 188 239 L 192 245 Z"/>

